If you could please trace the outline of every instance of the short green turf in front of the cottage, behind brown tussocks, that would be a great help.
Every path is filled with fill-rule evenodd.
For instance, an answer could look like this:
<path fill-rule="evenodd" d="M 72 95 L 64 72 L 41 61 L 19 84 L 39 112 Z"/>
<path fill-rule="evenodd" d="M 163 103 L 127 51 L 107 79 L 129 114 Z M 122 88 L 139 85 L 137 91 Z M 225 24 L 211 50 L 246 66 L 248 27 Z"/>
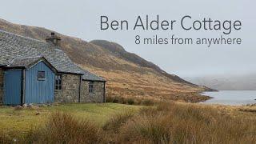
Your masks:
<path fill-rule="evenodd" d="M 140 106 L 105 104 L 65 104 L 58 106 L 32 107 L 14 110 L 13 107 L 0 107 L 0 133 L 26 134 L 46 124 L 54 112 L 65 112 L 79 119 L 90 119 L 102 126 L 111 116 L 126 111 L 136 111 Z"/>

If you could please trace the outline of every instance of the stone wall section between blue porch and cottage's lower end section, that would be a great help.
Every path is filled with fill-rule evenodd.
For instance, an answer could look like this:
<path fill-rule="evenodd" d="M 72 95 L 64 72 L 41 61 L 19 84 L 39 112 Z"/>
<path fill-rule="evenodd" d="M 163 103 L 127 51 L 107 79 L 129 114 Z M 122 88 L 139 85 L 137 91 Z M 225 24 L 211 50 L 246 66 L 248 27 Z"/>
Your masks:
<path fill-rule="evenodd" d="M 80 75 L 62 74 L 62 90 L 55 90 L 54 102 L 78 102 Z"/>

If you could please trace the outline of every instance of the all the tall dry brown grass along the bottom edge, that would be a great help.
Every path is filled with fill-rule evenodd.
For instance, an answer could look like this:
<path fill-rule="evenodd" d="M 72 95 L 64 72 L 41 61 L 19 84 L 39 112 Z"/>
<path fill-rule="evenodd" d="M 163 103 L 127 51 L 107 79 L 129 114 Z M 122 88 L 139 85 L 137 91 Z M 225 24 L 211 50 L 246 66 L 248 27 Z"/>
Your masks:
<path fill-rule="evenodd" d="M 118 113 L 101 127 L 73 114 L 54 113 L 19 143 L 254 143 L 256 106 L 161 102 Z M 1 130 L 0 130 L 1 131 Z M 14 142 L 2 135 L 0 142 Z"/>

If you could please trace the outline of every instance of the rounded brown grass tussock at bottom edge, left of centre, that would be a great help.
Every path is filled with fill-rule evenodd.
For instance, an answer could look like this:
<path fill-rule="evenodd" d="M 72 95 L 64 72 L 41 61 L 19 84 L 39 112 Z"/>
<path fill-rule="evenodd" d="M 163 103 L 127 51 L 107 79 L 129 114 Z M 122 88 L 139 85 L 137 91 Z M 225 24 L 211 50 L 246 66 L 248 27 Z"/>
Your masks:
<path fill-rule="evenodd" d="M 100 130 L 88 120 L 78 120 L 70 114 L 54 113 L 45 127 L 33 134 L 36 143 L 99 142 Z"/>

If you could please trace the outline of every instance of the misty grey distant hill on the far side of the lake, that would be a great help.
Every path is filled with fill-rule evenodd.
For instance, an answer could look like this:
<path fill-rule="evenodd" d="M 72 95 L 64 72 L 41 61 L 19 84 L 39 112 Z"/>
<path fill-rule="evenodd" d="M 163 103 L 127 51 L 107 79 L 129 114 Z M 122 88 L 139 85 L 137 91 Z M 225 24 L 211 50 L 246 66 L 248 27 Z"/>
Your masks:
<path fill-rule="evenodd" d="M 185 79 L 216 90 L 256 90 L 256 74 L 211 75 Z"/>

